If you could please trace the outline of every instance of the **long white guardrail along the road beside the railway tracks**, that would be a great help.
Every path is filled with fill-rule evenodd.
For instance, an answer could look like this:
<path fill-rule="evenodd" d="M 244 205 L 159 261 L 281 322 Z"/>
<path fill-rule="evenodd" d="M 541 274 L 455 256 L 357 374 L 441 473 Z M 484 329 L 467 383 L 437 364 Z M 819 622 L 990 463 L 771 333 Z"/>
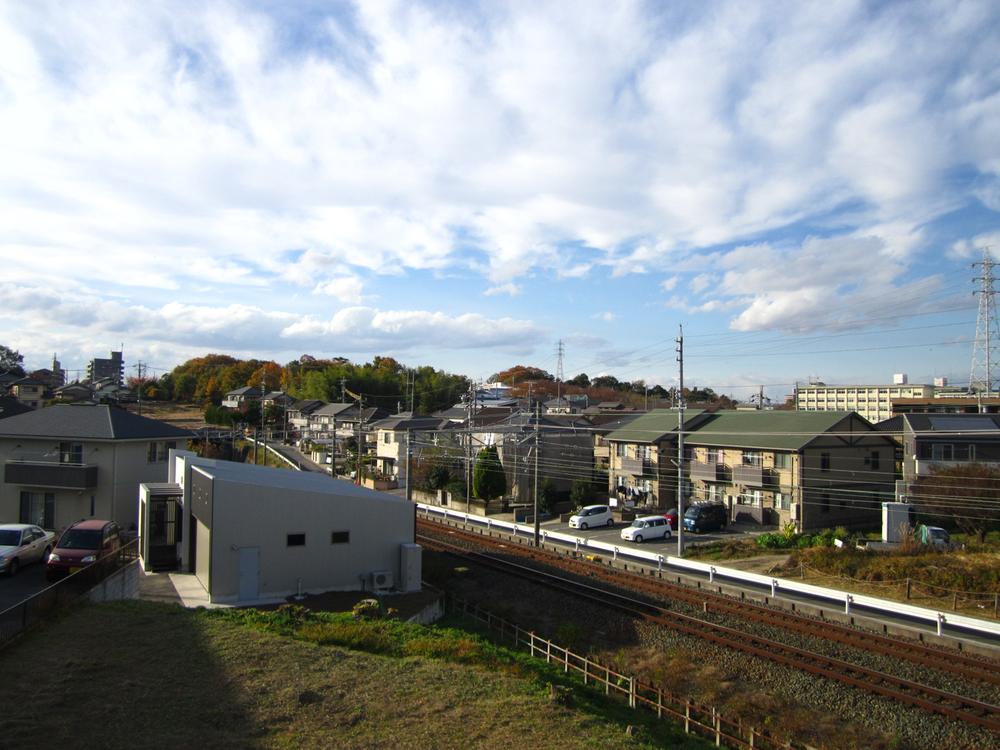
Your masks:
<path fill-rule="evenodd" d="M 466 524 L 474 524 L 486 529 L 505 530 L 515 536 L 532 536 L 535 527 L 528 524 L 518 524 L 511 521 L 500 521 L 494 518 L 477 516 L 474 513 L 462 513 L 460 511 L 449 510 L 437 505 L 425 505 L 417 503 L 417 507 L 429 516 L 439 516 L 462 521 Z M 705 575 L 709 582 L 714 581 L 716 576 L 729 581 L 750 583 L 758 587 L 770 588 L 771 596 L 781 596 L 782 594 L 799 594 L 814 599 L 823 599 L 843 607 L 845 614 L 850 614 L 852 608 L 863 607 L 866 610 L 883 612 L 886 615 L 904 617 L 911 620 L 918 620 L 937 631 L 938 635 L 945 635 L 948 629 L 961 629 L 986 638 L 1000 638 L 1000 622 L 989 622 L 975 617 L 965 617 L 954 612 L 940 612 L 938 610 L 927 609 L 926 607 L 916 607 L 912 604 L 894 602 L 889 599 L 878 599 L 874 596 L 863 594 L 852 594 L 837 589 L 828 589 L 823 586 L 813 586 L 808 583 L 799 583 L 788 578 L 773 578 L 762 576 L 757 573 L 748 573 L 735 568 L 709 565 L 708 563 L 697 562 L 695 560 L 685 560 L 682 557 L 670 555 L 658 555 L 655 552 L 646 552 L 633 547 L 621 547 L 607 542 L 598 542 L 574 534 L 566 534 L 560 531 L 541 530 L 542 541 L 565 542 L 573 546 L 576 551 L 592 550 L 597 552 L 610 552 L 612 558 L 628 558 L 632 560 L 645 560 L 656 565 L 658 570 L 665 567 L 674 569 L 686 569 L 694 573 Z"/>

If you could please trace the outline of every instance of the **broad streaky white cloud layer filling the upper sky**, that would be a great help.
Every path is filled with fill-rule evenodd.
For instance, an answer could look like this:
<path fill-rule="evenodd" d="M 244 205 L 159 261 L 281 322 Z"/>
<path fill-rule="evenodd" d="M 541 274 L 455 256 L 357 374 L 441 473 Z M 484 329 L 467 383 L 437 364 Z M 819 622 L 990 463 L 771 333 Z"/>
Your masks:
<path fill-rule="evenodd" d="M 5 6 L 5 256 L 311 288 L 269 256 L 402 273 L 462 265 L 472 238 L 502 285 L 648 273 L 851 201 L 903 233 L 996 205 L 989 3 L 355 11 L 293 49 L 239 3 Z M 994 182 L 942 200 L 958 165 Z"/>

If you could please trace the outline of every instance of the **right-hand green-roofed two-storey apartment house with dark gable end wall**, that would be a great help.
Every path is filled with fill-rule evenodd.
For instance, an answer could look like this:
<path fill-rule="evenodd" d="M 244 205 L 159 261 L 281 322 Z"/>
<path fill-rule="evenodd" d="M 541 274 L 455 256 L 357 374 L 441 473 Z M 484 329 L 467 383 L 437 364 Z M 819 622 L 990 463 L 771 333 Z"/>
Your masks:
<path fill-rule="evenodd" d="M 719 411 L 684 436 L 691 500 L 734 521 L 799 531 L 878 523 L 895 446 L 855 412 Z"/>

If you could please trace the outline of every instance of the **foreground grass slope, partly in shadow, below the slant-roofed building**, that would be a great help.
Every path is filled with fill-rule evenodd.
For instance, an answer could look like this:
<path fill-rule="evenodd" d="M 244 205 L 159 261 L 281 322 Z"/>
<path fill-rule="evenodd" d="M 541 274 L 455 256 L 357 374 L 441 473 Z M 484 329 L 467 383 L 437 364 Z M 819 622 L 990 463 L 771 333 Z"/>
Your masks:
<path fill-rule="evenodd" d="M 433 629 L 403 649 L 426 656 L 400 656 L 395 626 L 361 644 L 385 654 L 243 617 L 136 601 L 72 611 L 0 652 L 0 746 L 708 747 L 603 698 L 553 702 L 546 681 L 561 675 L 526 657 L 456 663 L 470 647 L 433 645 Z"/>

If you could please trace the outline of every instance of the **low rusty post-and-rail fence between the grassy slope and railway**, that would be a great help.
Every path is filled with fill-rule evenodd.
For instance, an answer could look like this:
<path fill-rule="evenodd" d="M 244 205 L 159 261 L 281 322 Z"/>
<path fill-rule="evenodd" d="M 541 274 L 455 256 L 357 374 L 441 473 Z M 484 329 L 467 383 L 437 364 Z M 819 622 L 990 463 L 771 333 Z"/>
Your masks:
<path fill-rule="evenodd" d="M 534 657 L 544 658 L 549 664 L 561 665 L 566 674 L 574 673 L 583 678 L 584 685 L 594 685 L 605 695 L 615 695 L 628 701 L 630 708 L 644 708 L 658 719 L 670 719 L 683 726 L 687 734 L 695 734 L 715 742 L 716 746 L 732 748 L 764 748 L 764 750 L 793 750 L 800 747 L 790 741 L 778 739 L 763 729 L 748 726 L 739 720 L 727 719 L 712 706 L 705 706 L 669 691 L 653 687 L 607 667 L 586 656 L 575 654 L 568 648 L 553 643 L 507 622 L 479 605 L 450 595 L 446 607 L 453 613 L 470 617 L 483 623 L 497 635 L 501 643 L 515 648 L 527 648 Z M 763 718 L 763 717 L 762 717 Z"/>

